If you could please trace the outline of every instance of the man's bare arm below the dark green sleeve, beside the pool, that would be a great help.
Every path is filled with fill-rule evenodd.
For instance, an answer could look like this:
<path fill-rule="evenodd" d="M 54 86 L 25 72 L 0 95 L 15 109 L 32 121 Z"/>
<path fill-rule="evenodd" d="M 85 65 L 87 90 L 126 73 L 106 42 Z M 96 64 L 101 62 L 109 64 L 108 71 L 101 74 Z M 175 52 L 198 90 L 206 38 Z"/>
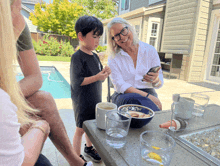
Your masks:
<path fill-rule="evenodd" d="M 43 84 L 34 49 L 20 51 L 18 62 L 24 74 L 24 78 L 19 81 L 21 91 L 25 97 L 29 97 L 37 92 Z"/>

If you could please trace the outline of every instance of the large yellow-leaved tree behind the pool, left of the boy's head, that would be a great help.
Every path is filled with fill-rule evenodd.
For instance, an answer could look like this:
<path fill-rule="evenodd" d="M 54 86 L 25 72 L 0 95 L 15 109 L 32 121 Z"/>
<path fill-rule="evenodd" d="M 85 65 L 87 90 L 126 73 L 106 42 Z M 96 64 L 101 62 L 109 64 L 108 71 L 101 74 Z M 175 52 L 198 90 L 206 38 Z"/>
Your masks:
<path fill-rule="evenodd" d="M 52 4 L 36 4 L 29 19 L 43 32 L 63 34 L 76 38 L 76 20 L 83 15 L 84 9 L 68 0 L 54 0 Z"/>

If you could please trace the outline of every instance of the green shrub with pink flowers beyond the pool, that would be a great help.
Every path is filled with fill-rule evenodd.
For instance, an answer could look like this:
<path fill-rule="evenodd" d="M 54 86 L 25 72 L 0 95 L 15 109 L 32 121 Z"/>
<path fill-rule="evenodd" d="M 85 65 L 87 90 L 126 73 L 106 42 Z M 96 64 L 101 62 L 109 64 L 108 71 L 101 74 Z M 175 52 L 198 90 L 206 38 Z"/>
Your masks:
<path fill-rule="evenodd" d="M 70 42 L 58 42 L 56 38 L 45 35 L 43 40 L 38 42 L 32 40 L 35 52 L 46 56 L 63 56 L 70 57 L 74 53 L 74 48 Z"/>

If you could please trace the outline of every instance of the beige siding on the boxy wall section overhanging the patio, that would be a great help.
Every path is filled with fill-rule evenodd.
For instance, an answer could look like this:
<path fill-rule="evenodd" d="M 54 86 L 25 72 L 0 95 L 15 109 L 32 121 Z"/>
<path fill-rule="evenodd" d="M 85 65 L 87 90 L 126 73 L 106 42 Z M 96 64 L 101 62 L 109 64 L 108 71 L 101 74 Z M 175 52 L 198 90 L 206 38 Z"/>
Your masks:
<path fill-rule="evenodd" d="M 196 11 L 197 0 L 167 0 L 162 52 L 190 52 Z"/>

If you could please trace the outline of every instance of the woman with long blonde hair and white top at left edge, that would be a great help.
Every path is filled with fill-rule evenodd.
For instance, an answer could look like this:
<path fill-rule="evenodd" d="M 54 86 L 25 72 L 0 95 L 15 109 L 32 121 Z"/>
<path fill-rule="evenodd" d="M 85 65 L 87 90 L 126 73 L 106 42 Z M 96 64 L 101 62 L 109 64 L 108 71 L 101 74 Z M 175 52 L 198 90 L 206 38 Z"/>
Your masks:
<path fill-rule="evenodd" d="M 25 102 L 16 81 L 16 40 L 25 22 L 20 13 L 21 0 L 11 4 L 0 0 L 0 165 L 34 165 L 49 135 L 46 121 L 35 121 L 29 114 L 37 112 Z M 14 28 L 13 28 L 14 27 Z M 19 129 L 30 125 L 21 137 Z"/>

